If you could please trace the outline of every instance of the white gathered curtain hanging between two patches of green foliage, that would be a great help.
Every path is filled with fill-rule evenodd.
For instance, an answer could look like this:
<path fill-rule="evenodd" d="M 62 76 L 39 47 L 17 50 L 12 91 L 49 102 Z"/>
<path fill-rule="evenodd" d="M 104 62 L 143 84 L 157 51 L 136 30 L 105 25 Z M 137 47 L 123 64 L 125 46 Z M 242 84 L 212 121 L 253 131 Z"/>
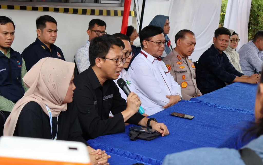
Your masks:
<path fill-rule="evenodd" d="M 237 50 L 248 39 L 248 22 L 250 14 L 251 0 L 228 0 L 224 27 L 233 29 L 240 36 Z"/>

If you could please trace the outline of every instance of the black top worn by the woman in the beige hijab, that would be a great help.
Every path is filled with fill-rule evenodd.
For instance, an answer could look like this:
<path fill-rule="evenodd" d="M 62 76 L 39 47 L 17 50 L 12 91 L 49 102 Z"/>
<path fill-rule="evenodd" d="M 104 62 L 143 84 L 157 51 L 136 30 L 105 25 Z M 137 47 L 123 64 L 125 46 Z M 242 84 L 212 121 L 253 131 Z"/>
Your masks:
<path fill-rule="evenodd" d="M 34 101 L 26 103 L 19 114 L 13 136 L 52 139 L 58 130 L 57 140 L 83 142 L 89 146 L 81 136 L 82 131 L 74 103 L 68 103 L 67 107 L 66 111 L 60 112 L 58 122 L 57 117 L 52 117 L 51 135 L 49 116 L 38 103 Z"/>

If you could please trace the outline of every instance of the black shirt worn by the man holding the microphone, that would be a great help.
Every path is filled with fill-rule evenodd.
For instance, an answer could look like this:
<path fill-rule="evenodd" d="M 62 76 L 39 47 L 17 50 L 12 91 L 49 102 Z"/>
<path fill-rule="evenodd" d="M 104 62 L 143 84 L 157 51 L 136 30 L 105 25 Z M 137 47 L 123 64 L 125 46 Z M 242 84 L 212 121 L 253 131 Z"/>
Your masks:
<path fill-rule="evenodd" d="M 127 103 L 113 80 L 107 80 L 101 86 L 92 67 L 89 67 L 75 77 L 74 84 L 73 100 L 85 140 L 125 132 L 121 112 L 126 109 Z M 110 111 L 114 117 L 109 118 Z M 127 123 L 138 124 L 143 118 L 137 112 Z"/>

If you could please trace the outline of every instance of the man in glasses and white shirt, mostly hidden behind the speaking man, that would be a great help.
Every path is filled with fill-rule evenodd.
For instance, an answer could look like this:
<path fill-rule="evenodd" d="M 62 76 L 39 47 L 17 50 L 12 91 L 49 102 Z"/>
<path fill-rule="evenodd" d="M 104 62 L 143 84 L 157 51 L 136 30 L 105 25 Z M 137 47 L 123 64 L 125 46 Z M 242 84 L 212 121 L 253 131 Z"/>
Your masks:
<path fill-rule="evenodd" d="M 135 92 L 135 86 L 133 85 L 133 82 L 131 81 L 130 76 L 125 71 L 125 68 L 128 68 L 130 61 L 131 61 L 131 58 L 134 56 L 134 53 L 135 53 L 131 49 L 131 44 L 129 42 L 130 38 L 128 36 L 126 36 L 125 34 L 122 34 L 122 33 L 115 33 L 112 36 L 115 36 L 115 37 L 121 39 L 122 42 L 124 43 L 124 46 L 125 46 L 125 48 L 122 50 L 122 53 L 123 53 L 123 58 L 126 58 L 126 60 L 125 60 L 125 63 L 123 64 L 123 69 L 120 71 L 120 76 L 118 79 L 123 78 L 124 81 L 126 82 L 128 88 L 130 89 L 130 91 Z M 118 86 L 118 84 L 117 84 L 118 79 L 113 80 L 117 86 Z M 119 87 L 119 91 L 120 91 L 122 98 L 124 98 L 126 100 L 127 95 L 123 92 L 123 90 L 120 87 Z M 113 116 L 112 113 L 110 113 L 110 116 Z M 143 116 L 147 117 L 148 115 L 144 113 Z"/>

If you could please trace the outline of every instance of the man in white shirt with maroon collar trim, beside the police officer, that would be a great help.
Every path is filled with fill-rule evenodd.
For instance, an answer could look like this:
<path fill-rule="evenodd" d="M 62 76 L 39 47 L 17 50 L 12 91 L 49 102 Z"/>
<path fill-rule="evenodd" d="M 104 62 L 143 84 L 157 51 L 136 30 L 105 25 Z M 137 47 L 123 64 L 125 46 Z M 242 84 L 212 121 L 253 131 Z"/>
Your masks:
<path fill-rule="evenodd" d="M 163 29 L 146 26 L 139 37 L 142 49 L 131 63 L 128 75 L 145 113 L 152 115 L 181 101 L 181 87 L 160 58 L 167 44 Z"/>

